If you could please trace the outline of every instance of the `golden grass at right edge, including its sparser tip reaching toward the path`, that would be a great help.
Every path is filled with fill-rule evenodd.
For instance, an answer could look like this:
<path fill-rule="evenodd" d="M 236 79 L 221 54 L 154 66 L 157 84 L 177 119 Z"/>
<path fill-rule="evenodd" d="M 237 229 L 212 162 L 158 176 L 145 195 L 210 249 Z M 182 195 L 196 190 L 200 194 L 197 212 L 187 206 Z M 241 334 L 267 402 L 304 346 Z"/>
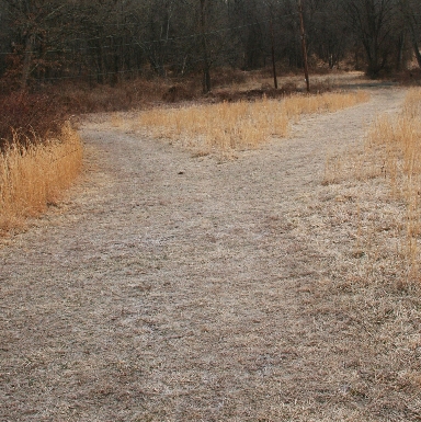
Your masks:
<path fill-rule="evenodd" d="M 368 129 L 361 151 L 350 152 L 346 159 L 343 157 L 327 159 L 325 175 L 327 184 L 349 179 L 350 174 L 351 178 L 363 181 L 382 178 L 389 185 L 389 199 L 392 199 L 396 206 L 399 204 L 402 213 L 397 212 L 396 220 L 384 221 L 384 225 L 388 227 L 390 236 L 399 239 L 397 254 L 407 280 L 419 280 L 421 277 L 421 89 L 411 89 L 408 92 L 399 114 L 377 117 Z"/>

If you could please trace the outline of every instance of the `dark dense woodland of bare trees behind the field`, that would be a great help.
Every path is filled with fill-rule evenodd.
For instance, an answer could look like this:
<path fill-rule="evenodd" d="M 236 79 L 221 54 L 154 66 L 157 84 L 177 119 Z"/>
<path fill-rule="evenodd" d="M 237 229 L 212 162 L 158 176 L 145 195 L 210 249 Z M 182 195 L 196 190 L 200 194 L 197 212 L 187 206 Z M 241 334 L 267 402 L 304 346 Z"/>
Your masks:
<path fill-rule="evenodd" d="M 0 80 L 22 90 L 61 80 L 203 78 L 218 67 L 343 62 L 376 78 L 421 65 L 419 0 L 0 0 Z"/>

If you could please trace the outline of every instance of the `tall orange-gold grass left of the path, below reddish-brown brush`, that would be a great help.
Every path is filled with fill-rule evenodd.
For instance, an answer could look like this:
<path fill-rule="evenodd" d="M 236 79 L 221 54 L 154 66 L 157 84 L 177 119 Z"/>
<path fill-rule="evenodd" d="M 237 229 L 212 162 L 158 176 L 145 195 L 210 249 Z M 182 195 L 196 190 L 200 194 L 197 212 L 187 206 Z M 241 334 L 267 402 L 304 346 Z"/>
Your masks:
<path fill-rule="evenodd" d="M 70 124 L 59 139 L 27 148 L 16 139 L 13 145 L 0 153 L 0 233 L 56 204 L 82 164 L 82 142 Z"/>

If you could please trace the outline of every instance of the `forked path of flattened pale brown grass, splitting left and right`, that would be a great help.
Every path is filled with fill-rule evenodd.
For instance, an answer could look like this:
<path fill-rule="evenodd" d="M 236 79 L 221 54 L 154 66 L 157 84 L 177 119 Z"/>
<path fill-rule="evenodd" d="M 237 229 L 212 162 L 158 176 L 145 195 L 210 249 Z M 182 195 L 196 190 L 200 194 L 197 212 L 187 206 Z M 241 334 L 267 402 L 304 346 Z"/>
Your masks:
<path fill-rule="evenodd" d="M 91 176 L 0 249 L 0 420 L 418 420 L 360 386 L 369 338 L 326 288 L 352 241 L 311 230 L 329 151 L 405 93 L 221 163 L 86 123 Z"/>

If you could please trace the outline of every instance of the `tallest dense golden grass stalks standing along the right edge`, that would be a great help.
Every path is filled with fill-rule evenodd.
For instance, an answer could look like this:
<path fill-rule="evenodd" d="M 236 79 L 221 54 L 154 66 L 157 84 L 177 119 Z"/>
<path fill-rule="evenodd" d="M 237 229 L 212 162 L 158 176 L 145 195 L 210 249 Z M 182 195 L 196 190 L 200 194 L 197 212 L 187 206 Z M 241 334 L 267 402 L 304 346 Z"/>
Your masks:
<path fill-rule="evenodd" d="M 369 129 L 366 155 L 374 157 L 374 175 L 383 175 L 392 196 L 406 206 L 401 255 L 408 275 L 419 274 L 421 235 L 421 89 L 411 89 L 398 116 L 384 115 Z"/>

